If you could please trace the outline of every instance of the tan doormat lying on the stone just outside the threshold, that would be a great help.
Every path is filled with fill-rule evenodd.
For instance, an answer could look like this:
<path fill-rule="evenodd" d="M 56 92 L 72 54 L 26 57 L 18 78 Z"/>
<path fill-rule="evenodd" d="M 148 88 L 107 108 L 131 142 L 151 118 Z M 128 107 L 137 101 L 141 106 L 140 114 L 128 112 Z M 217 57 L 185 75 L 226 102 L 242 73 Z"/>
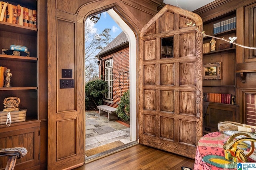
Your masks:
<path fill-rule="evenodd" d="M 102 146 L 98 146 L 96 148 L 86 150 L 85 154 L 86 154 L 86 156 L 92 156 L 92 155 L 104 152 L 106 150 L 117 148 L 118 146 L 122 146 L 122 145 L 124 145 L 124 143 L 121 142 L 120 140 L 117 140 L 115 142 L 111 142 L 111 143 L 108 143 L 108 144 L 104 144 Z"/>

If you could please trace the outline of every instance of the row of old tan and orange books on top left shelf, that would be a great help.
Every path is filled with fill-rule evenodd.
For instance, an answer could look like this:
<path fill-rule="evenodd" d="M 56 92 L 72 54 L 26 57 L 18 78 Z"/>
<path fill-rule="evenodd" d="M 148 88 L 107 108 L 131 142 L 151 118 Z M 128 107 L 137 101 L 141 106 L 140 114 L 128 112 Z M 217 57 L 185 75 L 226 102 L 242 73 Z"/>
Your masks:
<path fill-rule="evenodd" d="M 0 21 L 37 28 L 36 10 L 0 1 Z"/>

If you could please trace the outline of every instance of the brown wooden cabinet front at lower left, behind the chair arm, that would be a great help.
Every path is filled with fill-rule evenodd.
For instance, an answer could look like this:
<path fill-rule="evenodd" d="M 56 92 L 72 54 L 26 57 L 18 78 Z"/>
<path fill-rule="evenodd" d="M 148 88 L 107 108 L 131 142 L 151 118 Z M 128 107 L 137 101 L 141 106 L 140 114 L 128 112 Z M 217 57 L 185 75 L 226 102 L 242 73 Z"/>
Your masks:
<path fill-rule="evenodd" d="M 39 169 L 40 164 L 40 123 L 13 123 L 10 127 L 0 128 L 0 148 L 24 147 L 26 156 L 17 159 L 15 170 Z M 0 157 L 0 170 L 4 170 L 7 156 Z"/>

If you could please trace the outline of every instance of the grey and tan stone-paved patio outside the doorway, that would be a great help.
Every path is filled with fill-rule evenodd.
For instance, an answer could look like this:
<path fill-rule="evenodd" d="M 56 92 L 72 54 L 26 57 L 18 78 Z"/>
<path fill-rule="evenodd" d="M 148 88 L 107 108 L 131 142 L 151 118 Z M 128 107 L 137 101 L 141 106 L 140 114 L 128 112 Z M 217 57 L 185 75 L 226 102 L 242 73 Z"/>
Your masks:
<path fill-rule="evenodd" d="M 100 116 L 98 111 L 86 111 L 85 149 L 89 150 L 120 140 L 124 144 L 131 142 L 130 128 L 120 121 L 108 121 L 107 116 Z"/>

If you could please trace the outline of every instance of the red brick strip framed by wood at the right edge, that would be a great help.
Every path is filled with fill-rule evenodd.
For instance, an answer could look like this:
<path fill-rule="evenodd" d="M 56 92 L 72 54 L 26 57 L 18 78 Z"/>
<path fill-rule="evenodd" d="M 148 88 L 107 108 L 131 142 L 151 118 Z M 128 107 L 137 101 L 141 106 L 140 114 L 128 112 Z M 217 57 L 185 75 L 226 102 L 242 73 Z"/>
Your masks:
<path fill-rule="evenodd" d="M 246 124 L 256 125 L 256 94 L 246 94 Z"/>

